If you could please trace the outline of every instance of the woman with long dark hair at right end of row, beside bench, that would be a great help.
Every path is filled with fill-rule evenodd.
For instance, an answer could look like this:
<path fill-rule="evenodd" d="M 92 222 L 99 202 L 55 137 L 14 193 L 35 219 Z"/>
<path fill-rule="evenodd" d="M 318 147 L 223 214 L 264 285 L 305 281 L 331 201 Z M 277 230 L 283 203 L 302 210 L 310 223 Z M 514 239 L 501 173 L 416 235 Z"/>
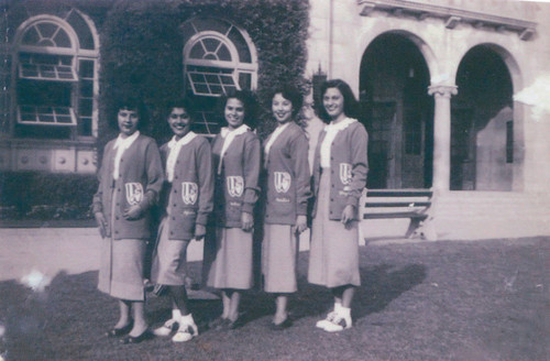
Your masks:
<path fill-rule="evenodd" d="M 314 220 L 308 280 L 330 288 L 334 309 L 317 327 L 328 332 L 352 326 L 351 303 L 359 274 L 359 199 L 366 185 L 366 130 L 353 117 L 356 100 L 340 79 L 321 86 L 321 117 L 314 161 Z"/>

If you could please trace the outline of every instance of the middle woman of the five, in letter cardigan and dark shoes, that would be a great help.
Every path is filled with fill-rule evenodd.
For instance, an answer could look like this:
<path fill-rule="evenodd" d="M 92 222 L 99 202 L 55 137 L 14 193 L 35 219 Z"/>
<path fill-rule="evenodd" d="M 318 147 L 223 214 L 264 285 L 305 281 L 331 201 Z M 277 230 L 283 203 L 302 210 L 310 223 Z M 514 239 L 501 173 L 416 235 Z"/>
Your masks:
<path fill-rule="evenodd" d="M 251 96 L 237 91 L 224 99 L 228 127 L 213 139 L 216 207 L 213 227 L 205 243 L 207 285 L 221 289 L 223 313 L 211 328 L 239 327 L 239 303 L 243 289 L 253 285 L 253 210 L 258 198 L 261 146 L 250 128 Z"/>

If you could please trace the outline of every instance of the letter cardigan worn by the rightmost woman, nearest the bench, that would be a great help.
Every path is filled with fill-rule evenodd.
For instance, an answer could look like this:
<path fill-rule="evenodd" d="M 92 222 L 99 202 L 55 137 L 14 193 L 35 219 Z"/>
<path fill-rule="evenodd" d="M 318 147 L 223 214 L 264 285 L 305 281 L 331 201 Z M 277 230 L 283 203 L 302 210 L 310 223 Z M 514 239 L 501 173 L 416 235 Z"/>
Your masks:
<path fill-rule="evenodd" d="M 314 157 L 314 192 L 317 199 L 321 178 L 321 144 L 327 131 L 319 133 L 319 141 Z M 329 219 L 340 220 L 346 205 L 359 209 L 359 199 L 366 186 L 369 173 L 367 161 L 369 135 L 365 127 L 358 122 L 338 132 L 330 147 L 330 206 Z M 317 212 L 317 200 L 314 203 L 312 217 Z M 355 219 L 359 220 L 358 212 Z"/>

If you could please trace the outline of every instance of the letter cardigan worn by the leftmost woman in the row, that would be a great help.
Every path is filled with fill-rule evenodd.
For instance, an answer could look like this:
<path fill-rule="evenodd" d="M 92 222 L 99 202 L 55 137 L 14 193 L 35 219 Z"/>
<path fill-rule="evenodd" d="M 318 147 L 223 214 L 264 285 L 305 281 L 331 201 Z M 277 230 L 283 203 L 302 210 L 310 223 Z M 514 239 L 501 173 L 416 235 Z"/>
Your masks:
<path fill-rule="evenodd" d="M 146 240 L 151 237 L 151 208 L 157 203 L 164 182 L 158 147 L 153 139 L 140 134 L 122 154 L 119 178 L 114 180 L 116 141 L 105 146 L 92 210 L 103 212 L 108 225 L 107 237 Z M 114 215 L 111 214 L 113 203 Z M 136 220 L 127 220 L 122 214 L 132 205 L 139 205 L 142 215 Z"/>

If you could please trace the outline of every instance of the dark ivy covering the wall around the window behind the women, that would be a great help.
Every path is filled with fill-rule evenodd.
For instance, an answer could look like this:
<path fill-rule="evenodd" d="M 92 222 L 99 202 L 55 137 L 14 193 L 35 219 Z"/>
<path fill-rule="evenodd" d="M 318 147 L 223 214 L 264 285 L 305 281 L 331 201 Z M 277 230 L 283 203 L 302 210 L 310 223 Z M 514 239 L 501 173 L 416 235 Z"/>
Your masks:
<path fill-rule="evenodd" d="M 284 83 L 306 87 L 307 0 L 117 1 L 101 30 L 100 151 L 117 134 L 113 99 L 121 92 L 141 97 L 146 103 L 151 118 L 145 133 L 160 143 L 169 139 L 164 105 L 183 95 L 185 44 L 179 25 L 201 15 L 229 20 L 246 31 L 256 46 L 261 134 L 274 128 L 271 90 Z"/>

